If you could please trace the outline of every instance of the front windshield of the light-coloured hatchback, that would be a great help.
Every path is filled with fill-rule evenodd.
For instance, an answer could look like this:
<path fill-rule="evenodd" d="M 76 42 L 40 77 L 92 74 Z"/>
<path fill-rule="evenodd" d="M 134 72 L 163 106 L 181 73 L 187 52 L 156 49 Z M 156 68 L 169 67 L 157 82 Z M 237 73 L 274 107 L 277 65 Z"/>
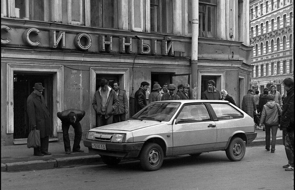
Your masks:
<path fill-rule="evenodd" d="M 141 120 L 170 121 L 180 102 L 151 102 L 132 118 Z M 132 119 L 131 118 L 131 119 Z"/>

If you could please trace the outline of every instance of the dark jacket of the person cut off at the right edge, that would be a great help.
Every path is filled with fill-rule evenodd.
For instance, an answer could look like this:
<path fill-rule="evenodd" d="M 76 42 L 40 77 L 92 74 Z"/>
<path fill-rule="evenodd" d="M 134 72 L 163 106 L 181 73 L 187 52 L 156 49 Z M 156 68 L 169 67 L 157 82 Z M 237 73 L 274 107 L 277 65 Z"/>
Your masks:
<path fill-rule="evenodd" d="M 294 87 L 287 91 L 283 104 L 280 130 L 294 131 Z"/>

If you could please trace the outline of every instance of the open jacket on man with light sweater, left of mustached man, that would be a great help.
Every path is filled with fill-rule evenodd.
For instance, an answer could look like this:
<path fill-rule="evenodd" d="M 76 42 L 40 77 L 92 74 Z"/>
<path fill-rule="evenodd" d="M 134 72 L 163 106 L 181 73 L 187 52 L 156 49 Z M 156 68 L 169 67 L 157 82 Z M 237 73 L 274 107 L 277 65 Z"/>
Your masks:
<path fill-rule="evenodd" d="M 99 88 L 93 98 L 93 109 L 96 111 L 97 115 L 101 115 L 101 104 L 102 98 L 101 98 L 101 88 Z M 107 95 L 107 102 L 105 105 L 105 118 L 109 118 L 114 114 L 114 111 L 119 105 L 118 96 L 116 94 L 116 91 L 114 91 L 110 86 L 108 86 L 108 95 Z"/>

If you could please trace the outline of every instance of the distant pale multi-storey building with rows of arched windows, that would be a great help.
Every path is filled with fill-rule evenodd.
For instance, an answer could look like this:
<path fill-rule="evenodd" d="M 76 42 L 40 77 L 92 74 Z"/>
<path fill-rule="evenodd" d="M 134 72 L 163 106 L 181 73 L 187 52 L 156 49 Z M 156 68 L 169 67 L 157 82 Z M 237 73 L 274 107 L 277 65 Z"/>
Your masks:
<path fill-rule="evenodd" d="M 293 1 L 250 1 L 250 44 L 254 66 L 250 86 L 263 93 L 275 84 L 286 94 L 282 81 L 293 77 Z"/>

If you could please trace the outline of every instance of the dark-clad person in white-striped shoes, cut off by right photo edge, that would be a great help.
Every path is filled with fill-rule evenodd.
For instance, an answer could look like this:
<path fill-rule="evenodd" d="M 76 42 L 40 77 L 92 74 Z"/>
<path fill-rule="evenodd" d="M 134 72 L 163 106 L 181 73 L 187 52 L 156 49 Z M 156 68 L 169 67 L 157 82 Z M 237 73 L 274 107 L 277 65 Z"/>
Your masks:
<path fill-rule="evenodd" d="M 283 132 L 283 144 L 288 158 L 288 164 L 283 168 L 286 171 L 294 171 L 294 80 L 285 78 L 283 85 L 287 95 L 283 102 L 280 130 Z"/>

